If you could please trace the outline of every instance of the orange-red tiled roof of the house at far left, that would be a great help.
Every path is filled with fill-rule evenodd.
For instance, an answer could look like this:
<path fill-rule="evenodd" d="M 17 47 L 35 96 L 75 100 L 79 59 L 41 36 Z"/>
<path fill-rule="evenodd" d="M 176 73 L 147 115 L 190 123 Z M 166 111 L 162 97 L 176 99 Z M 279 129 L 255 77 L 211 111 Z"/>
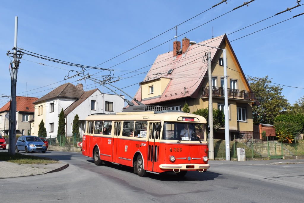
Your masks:
<path fill-rule="evenodd" d="M 16 96 L 17 111 L 34 112 L 35 109 L 33 102 L 36 100 L 38 100 L 36 97 Z M 9 107 L 10 101 L 0 109 L 0 112 L 9 111 Z"/>

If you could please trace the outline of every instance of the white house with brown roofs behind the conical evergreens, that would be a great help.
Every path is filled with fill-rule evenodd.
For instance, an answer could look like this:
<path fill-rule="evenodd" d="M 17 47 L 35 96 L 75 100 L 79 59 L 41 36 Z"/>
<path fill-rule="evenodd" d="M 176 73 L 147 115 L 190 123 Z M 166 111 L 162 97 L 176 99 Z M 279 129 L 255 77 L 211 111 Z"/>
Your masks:
<path fill-rule="evenodd" d="M 122 96 L 124 97 L 124 96 Z M 47 129 L 47 138 L 57 136 L 59 114 L 64 110 L 66 135 L 72 136 L 73 120 L 79 116 L 79 131 L 84 131 L 85 118 L 91 114 L 113 114 L 123 110 L 124 100 L 118 95 L 104 94 L 99 89 L 83 90 L 83 85 L 65 83 L 34 102 L 34 135 L 38 135 L 41 120 Z"/>

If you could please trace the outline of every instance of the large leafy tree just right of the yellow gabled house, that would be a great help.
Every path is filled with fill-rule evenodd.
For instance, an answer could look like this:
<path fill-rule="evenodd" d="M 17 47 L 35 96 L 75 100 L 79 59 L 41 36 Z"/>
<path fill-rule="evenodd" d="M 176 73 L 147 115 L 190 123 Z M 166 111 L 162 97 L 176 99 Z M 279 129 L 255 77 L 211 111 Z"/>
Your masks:
<path fill-rule="evenodd" d="M 282 95 L 283 88 L 271 85 L 268 75 L 264 78 L 249 78 L 249 85 L 260 105 L 252 107 L 253 124 L 273 124 L 275 117 L 287 110 L 289 103 Z"/>

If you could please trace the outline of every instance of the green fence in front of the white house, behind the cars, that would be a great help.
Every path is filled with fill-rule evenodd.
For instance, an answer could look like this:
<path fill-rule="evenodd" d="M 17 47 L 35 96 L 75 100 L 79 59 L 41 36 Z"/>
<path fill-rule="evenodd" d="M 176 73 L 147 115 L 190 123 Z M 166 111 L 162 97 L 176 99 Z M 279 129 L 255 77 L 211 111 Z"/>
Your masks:
<path fill-rule="evenodd" d="M 59 145 L 61 147 L 77 147 L 77 143 L 82 142 L 82 137 L 76 135 L 52 135 L 46 139 L 49 145 Z"/>

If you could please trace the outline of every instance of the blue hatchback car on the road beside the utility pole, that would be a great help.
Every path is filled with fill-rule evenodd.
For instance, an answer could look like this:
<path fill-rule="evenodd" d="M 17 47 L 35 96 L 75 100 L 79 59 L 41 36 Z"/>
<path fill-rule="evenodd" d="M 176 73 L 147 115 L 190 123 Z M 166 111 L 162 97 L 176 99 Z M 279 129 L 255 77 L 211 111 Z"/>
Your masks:
<path fill-rule="evenodd" d="M 36 136 L 21 136 L 18 138 L 16 143 L 16 152 L 19 151 L 28 152 L 42 152 L 45 153 L 47 151 L 47 146 L 45 143 Z"/>

